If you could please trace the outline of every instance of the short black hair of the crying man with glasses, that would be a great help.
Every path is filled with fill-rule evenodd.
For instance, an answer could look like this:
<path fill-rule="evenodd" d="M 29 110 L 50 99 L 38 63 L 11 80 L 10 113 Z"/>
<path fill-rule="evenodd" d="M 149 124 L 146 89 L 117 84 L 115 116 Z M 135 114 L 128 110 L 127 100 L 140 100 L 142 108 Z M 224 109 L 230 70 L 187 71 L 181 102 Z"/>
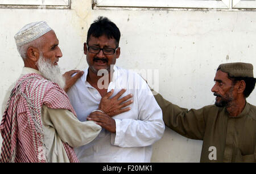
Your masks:
<path fill-rule="evenodd" d="M 115 39 L 116 46 L 118 47 L 121 36 L 119 28 L 108 18 L 99 16 L 98 19 L 94 20 L 88 29 L 86 43 L 89 43 L 90 36 L 100 37 L 103 35 L 106 35 L 108 39 Z"/>

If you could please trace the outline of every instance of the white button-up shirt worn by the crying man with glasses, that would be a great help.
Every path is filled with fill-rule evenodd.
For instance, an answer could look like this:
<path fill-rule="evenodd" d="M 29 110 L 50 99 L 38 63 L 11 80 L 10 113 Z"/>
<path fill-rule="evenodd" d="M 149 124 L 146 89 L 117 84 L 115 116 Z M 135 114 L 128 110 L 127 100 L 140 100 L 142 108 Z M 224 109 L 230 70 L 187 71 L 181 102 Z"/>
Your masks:
<path fill-rule="evenodd" d="M 84 75 L 68 91 L 80 121 L 85 121 L 101 100 L 100 93 L 86 81 L 87 74 L 88 69 L 85 69 Z M 120 99 L 133 94 L 130 111 L 113 117 L 116 133 L 102 129 L 92 142 L 75 148 L 80 162 L 150 162 L 152 144 L 164 133 L 162 110 L 138 74 L 114 66 L 108 92 L 114 89 L 114 96 L 122 88 L 127 90 Z"/>

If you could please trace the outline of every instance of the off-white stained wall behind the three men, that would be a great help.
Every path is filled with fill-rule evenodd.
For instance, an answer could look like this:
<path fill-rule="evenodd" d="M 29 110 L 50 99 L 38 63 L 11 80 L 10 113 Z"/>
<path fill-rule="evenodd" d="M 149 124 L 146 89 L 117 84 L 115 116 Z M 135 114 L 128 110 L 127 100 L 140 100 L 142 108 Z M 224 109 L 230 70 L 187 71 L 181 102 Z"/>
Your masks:
<path fill-rule="evenodd" d="M 97 16 L 107 16 L 121 31 L 117 65 L 159 70 L 160 94 L 185 108 L 214 103 L 210 89 L 220 63 L 256 66 L 256 11 L 92 10 L 90 2 L 72 1 L 71 10 L 0 9 L 0 103 L 23 66 L 13 37 L 38 20 L 55 29 L 64 72 L 87 67 L 82 50 L 86 31 Z M 247 99 L 254 105 L 255 94 Z M 167 128 L 151 161 L 199 162 L 201 145 Z"/>

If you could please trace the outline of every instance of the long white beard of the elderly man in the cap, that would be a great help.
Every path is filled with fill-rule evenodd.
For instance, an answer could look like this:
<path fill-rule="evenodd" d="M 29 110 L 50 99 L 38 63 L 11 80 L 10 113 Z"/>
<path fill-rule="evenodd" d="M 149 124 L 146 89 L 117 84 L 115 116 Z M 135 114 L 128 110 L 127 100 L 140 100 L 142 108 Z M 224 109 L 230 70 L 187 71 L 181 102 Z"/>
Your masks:
<path fill-rule="evenodd" d="M 59 84 L 61 88 L 65 87 L 65 78 L 61 75 L 58 65 L 53 65 L 50 60 L 44 58 L 41 54 L 36 65 L 45 78 Z"/>

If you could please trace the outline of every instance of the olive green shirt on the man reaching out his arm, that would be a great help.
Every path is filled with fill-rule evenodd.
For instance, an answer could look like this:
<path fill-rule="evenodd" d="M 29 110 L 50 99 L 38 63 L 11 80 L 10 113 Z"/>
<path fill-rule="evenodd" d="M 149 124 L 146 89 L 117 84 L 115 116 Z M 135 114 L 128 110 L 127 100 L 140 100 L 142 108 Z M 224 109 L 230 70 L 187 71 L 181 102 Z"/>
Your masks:
<path fill-rule="evenodd" d="M 256 162 L 256 107 L 246 103 L 242 113 L 230 117 L 226 108 L 208 105 L 201 109 L 180 108 L 155 99 L 166 126 L 192 139 L 203 140 L 200 162 Z"/>

